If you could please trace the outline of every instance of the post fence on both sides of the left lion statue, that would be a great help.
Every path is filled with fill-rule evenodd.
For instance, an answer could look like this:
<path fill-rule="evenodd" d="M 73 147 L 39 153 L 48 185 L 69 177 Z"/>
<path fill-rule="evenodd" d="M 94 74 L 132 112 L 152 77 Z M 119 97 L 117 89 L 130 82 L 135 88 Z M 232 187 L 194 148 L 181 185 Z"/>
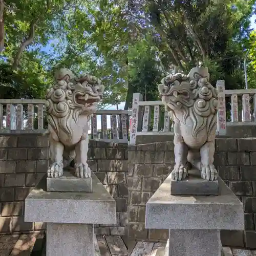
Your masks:
<path fill-rule="evenodd" d="M 0 133 L 46 132 L 46 100 L 0 99 Z M 92 139 L 111 142 L 128 142 L 128 120 L 131 111 L 98 110 L 91 118 Z M 98 129 L 100 116 L 101 129 Z M 110 126 L 107 119 L 110 116 Z"/>

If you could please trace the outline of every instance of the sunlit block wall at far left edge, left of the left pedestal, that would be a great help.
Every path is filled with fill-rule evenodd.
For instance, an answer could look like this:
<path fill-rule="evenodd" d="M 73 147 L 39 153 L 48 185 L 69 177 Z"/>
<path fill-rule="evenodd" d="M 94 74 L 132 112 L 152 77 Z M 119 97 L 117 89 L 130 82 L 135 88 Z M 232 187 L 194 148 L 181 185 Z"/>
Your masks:
<path fill-rule="evenodd" d="M 24 200 L 45 175 L 47 166 L 47 136 L 0 136 L 0 233 L 44 228 L 42 223 L 24 222 Z"/>

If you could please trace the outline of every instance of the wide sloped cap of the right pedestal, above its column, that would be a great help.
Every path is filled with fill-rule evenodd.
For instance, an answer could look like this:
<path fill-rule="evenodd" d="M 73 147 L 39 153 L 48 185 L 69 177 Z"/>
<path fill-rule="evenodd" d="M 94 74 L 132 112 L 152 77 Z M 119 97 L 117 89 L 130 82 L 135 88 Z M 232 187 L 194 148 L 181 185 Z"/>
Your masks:
<path fill-rule="evenodd" d="M 146 203 L 146 228 L 244 229 L 243 204 L 221 179 L 219 196 L 172 196 L 171 176 Z"/>

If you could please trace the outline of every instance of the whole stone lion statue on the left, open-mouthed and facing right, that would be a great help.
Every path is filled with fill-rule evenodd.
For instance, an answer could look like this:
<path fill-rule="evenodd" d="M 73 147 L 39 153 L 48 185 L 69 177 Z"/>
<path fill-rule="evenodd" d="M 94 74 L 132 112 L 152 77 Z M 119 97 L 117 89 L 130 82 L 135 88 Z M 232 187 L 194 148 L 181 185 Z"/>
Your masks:
<path fill-rule="evenodd" d="M 97 111 L 104 86 L 95 76 L 82 75 L 75 78 L 69 69 L 58 70 L 55 81 L 46 96 L 51 152 L 48 177 L 61 177 L 63 167 L 74 160 L 75 175 L 89 178 L 89 119 Z"/>

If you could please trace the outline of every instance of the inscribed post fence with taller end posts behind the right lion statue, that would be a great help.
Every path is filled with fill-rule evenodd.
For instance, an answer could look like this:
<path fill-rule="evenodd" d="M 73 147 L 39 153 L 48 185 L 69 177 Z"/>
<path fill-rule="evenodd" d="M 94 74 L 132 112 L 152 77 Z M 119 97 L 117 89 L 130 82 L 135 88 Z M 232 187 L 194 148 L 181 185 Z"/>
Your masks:
<path fill-rule="evenodd" d="M 256 89 L 225 91 L 224 80 L 218 80 L 216 87 L 219 92 L 218 135 L 226 135 L 227 125 L 256 125 Z M 137 135 L 173 132 L 173 122 L 162 101 L 142 101 L 140 93 L 133 95 L 131 119 L 130 144 L 135 144 Z"/>

